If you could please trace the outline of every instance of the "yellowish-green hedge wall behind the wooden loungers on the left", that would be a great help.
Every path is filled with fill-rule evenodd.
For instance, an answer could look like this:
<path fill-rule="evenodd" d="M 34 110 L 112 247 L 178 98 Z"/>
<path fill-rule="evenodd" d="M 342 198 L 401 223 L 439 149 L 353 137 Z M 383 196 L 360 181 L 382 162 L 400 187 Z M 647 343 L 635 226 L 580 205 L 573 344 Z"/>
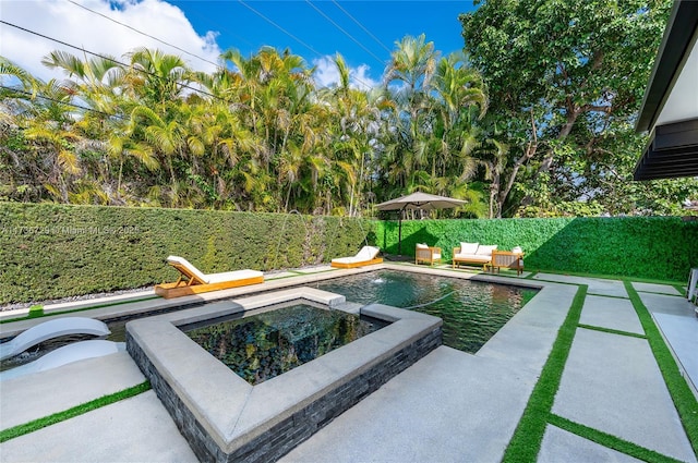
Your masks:
<path fill-rule="evenodd" d="M 0 305 L 173 281 L 180 255 L 207 273 L 294 268 L 374 244 L 336 217 L 0 203 Z"/>

